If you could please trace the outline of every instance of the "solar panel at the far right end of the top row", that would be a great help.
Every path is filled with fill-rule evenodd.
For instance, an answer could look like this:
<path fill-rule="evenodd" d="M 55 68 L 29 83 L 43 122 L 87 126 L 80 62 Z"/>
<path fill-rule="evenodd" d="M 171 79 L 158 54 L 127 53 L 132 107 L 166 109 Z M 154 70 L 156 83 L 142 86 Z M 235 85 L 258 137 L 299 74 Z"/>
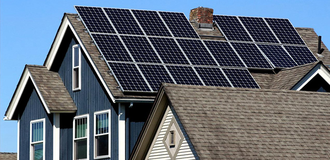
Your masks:
<path fill-rule="evenodd" d="M 264 18 L 282 44 L 305 45 L 289 19 Z"/>

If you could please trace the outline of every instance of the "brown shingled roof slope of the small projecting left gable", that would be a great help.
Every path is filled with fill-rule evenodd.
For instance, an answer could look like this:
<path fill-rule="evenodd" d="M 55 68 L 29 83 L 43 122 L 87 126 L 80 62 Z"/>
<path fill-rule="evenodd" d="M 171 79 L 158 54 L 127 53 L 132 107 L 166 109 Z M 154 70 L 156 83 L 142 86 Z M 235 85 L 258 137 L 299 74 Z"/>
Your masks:
<path fill-rule="evenodd" d="M 26 65 L 31 72 L 41 95 L 45 99 L 50 112 L 76 111 L 69 92 L 57 72 L 52 72 L 43 65 Z"/>

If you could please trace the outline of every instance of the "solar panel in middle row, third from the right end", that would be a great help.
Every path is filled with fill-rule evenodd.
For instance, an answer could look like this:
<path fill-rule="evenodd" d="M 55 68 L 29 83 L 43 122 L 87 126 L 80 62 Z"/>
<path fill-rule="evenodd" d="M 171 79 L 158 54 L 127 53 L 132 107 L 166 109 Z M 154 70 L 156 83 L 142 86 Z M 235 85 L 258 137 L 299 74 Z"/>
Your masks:
<path fill-rule="evenodd" d="M 232 42 L 231 45 L 248 68 L 273 69 L 255 44 Z"/>

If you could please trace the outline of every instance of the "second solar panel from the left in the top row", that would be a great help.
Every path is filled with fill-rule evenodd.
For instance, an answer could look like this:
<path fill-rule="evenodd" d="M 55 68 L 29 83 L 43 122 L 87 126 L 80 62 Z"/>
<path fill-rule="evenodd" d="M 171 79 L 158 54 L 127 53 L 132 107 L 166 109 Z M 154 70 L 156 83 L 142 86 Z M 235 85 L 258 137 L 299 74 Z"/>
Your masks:
<path fill-rule="evenodd" d="M 130 10 L 104 8 L 104 11 L 119 34 L 144 35 Z"/>

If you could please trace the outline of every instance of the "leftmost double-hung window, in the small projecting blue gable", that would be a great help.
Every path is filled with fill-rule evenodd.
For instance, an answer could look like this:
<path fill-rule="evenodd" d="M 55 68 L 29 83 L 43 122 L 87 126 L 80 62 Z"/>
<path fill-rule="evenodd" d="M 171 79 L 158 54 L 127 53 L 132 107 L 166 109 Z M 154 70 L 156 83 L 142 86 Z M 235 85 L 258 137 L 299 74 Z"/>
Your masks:
<path fill-rule="evenodd" d="M 45 160 L 45 119 L 30 122 L 30 160 Z"/>

